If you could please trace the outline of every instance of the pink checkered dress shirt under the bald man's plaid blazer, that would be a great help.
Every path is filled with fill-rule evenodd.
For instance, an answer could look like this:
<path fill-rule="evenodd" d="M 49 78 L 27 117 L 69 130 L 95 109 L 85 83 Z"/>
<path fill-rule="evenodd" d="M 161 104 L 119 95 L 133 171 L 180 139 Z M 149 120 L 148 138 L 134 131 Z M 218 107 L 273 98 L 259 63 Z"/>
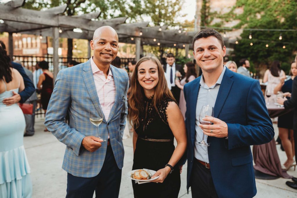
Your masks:
<path fill-rule="evenodd" d="M 103 71 L 97 67 L 93 57 L 91 58 L 91 67 L 99 103 L 107 121 L 116 97 L 116 86 L 114 85 L 113 75 L 109 67 L 108 76 L 105 78 Z"/>

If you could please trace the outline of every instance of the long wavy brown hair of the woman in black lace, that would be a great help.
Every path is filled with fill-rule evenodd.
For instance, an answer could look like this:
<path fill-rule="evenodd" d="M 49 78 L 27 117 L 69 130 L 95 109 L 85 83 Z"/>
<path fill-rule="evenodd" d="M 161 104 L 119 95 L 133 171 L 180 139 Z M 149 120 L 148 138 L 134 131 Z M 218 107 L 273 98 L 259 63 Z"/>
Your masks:
<path fill-rule="evenodd" d="M 158 76 L 159 81 L 158 84 L 155 87 L 155 93 L 153 97 L 153 105 L 154 108 L 157 110 L 157 105 L 164 99 L 170 98 L 174 101 L 176 101 L 169 90 L 167 86 L 167 81 L 165 78 L 163 67 L 159 61 L 159 59 L 155 56 L 145 56 L 138 60 L 138 62 L 135 65 L 135 69 L 132 73 L 131 77 L 131 92 L 130 92 L 130 98 L 128 99 L 129 103 L 129 116 L 130 116 L 130 122 L 132 126 L 135 126 L 136 128 L 139 126 L 139 112 L 145 111 L 143 104 L 145 102 L 145 95 L 143 91 L 143 87 L 138 82 L 138 67 L 141 63 L 144 61 L 151 60 L 157 65 L 158 68 Z"/>

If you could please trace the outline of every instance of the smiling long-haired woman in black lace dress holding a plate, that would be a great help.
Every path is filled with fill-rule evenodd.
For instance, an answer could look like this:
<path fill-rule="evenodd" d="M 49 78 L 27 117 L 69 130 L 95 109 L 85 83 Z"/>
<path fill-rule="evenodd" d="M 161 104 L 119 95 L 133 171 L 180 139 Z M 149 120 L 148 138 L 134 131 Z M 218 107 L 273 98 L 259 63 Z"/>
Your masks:
<path fill-rule="evenodd" d="M 181 185 L 178 161 L 187 147 L 186 128 L 156 57 L 143 57 L 136 63 L 128 102 L 135 128 L 132 170 L 146 168 L 157 171 L 152 178 L 159 176 L 144 184 L 132 181 L 134 197 L 178 197 Z"/>

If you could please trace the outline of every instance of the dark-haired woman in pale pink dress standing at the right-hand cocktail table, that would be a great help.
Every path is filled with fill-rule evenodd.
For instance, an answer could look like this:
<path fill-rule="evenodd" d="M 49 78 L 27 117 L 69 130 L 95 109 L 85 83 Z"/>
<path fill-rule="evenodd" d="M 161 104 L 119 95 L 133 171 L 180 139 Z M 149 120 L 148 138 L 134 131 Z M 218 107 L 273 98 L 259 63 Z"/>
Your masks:
<path fill-rule="evenodd" d="M 267 69 L 264 74 L 263 82 L 268 82 L 266 86 L 265 98 L 275 101 L 276 95 L 273 94 L 274 88 L 279 84 L 280 78 L 285 76 L 285 72 L 280 69 L 280 63 L 278 60 L 272 62 L 270 69 Z M 269 97 L 267 97 L 267 95 Z"/>

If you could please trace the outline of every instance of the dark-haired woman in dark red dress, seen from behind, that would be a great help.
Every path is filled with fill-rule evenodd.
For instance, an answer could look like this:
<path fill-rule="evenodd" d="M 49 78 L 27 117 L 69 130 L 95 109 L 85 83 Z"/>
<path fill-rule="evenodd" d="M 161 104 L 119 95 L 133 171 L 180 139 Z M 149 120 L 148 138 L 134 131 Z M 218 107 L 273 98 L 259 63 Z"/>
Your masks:
<path fill-rule="evenodd" d="M 41 61 L 39 63 L 39 66 L 42 69 L 43 73 L 39 77 L 37 87 L 39 90 L 41 90 L 42 109 L 46 114 L 48 102 L 50 101 L 50 96 L 53 93 L 53 74 L 50 71 L 48 71 L 48 62 L 46 62 L 45 60 Z M 48 130 L 45 128 L 44 131 Z"/>

